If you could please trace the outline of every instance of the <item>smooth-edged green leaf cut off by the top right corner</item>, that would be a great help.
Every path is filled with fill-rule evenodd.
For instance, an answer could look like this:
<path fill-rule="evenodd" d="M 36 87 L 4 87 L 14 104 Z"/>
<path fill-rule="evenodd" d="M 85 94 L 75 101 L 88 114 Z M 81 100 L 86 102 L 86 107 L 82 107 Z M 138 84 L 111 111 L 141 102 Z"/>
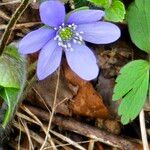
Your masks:
<path fill-rule="evenodd" d="M 133 43 L 145 52 L 150 52 L 150 1 L 135 0 L 127 12 L 129 33 Z"/>

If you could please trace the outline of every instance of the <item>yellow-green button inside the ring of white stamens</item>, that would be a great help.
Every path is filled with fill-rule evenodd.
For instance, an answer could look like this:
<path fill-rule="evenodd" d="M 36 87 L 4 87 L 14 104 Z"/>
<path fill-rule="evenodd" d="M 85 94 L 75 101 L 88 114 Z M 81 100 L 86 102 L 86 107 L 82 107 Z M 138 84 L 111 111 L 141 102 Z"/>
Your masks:
<path fill-rule="evenodd" d="M 62 41 L 69 41 L 73 37 L 73 32 L 71 28 L 65 27 L 59 30 L 59 36 Z"/>

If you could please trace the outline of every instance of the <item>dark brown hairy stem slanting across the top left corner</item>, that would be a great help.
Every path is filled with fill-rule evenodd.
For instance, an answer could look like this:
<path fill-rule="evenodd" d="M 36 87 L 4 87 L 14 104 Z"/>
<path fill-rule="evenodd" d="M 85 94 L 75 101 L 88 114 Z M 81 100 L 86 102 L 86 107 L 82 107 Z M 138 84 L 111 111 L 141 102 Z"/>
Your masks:
<path fill-rule="evenodd" d="M 4 32 L 4 34 L 1 38 L 0 55 L 2 55 L 6 45 L 8 44 L 8 40 L 10 38 L 10 35 L 13 31 L 13 28 L 14 28 L 15 24 L 17 23 L 18 19 L 23 14 L 25 9 L 28 7 L 29 3 L 30 3 L 30 0 L 23 0 L 21 2 L 20 6 L 15 11 L 14 15 L 11 17 L 11 19 L 8 23 L 8 26 L 5 29 L 5 32 Z"/>

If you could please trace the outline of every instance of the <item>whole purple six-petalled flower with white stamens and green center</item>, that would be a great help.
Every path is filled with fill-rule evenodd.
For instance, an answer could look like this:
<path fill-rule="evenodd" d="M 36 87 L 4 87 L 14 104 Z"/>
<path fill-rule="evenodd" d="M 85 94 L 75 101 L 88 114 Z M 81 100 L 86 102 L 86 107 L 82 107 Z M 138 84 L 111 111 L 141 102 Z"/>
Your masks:
<path fill-rule="evenodd" d="M 84 41 L 107 44 L 120 37 L 116 25 L 99 21 L 103 16 L 103 11 L 89 9 L 66 15 L 61 2 L 43 2 L 40 17 L 46 26 L 27 34 L 19 44 L 19 51 L 30 54 L 41 50 L 37 64 L 40 80 L 59 67 L 63 51 L 70 68 L 82 79 L 92 80 L 97 77 L 99 68 L 93 52 Z"/>

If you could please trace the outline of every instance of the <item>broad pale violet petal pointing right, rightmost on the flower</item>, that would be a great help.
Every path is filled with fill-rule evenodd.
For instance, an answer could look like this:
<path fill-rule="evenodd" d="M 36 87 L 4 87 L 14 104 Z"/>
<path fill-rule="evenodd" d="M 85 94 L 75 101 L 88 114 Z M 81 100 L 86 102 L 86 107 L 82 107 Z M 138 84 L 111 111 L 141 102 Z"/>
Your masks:
<path fill-rule="evenodd" d="M 116 41 L 120 37 L 120 29 L 109 22 L 96 22 L 78 25 L 78 32 L 84 32 L 82 35 L 85 41 L 95 44 L 108 44 Z"/>

